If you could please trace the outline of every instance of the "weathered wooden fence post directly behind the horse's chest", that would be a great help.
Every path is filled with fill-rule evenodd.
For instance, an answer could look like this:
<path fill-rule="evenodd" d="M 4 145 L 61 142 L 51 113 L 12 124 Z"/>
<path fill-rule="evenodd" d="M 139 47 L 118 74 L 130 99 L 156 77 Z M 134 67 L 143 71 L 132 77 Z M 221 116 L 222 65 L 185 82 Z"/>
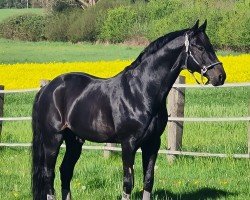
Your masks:
<path fill-rule="evenodd" d="M 185 77 L 179 76 L 177 84 L 185 84 Z M 168 95 L 168 114 L 171 117 L 184 117 L 185 88 L 172 88 Z M 179 151 L 182 148 L 183 122 L 168 122 L 168 150 Z M 167 156 L 173 162 L 175 156 Z"/>

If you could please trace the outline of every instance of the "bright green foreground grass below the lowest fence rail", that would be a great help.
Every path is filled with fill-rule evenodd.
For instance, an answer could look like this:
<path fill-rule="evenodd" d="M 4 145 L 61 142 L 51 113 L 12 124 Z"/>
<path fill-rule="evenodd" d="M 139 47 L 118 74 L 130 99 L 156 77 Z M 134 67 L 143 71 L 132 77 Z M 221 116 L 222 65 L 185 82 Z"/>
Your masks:
<path fill-rule="evenodd" d="M 55 188 L 60 199 L 59 164 Z M 1 149 L 0 198 L 31 199 L 30 151 Z M 102 152 L 84 151 L 72 181 L 74 199 L 121 199 L 122 164 L 120 156 L 105 159 Z M 156 163 L 153 199 L 249 199 L 249 162 L 240 159 L 178 158 L 174 164 L 160 155 Z M 132 199 L 141 199 L 141 156 L 136 157 L 135 188 Z"/>

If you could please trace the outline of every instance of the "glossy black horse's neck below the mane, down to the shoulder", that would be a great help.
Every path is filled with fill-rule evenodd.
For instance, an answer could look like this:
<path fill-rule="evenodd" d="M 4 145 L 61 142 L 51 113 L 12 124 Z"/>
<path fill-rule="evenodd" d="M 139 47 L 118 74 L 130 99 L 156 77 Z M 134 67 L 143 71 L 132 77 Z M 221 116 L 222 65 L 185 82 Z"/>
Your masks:
<path fill-rule="evenodd" d="M 159 104 L 166 99 L 170 89 L 181 71 L 182 48 L 169 50 L 162 48 L 155 54 L 146 57 L 137 67 L 130 70 L 130 85 Z"/>

